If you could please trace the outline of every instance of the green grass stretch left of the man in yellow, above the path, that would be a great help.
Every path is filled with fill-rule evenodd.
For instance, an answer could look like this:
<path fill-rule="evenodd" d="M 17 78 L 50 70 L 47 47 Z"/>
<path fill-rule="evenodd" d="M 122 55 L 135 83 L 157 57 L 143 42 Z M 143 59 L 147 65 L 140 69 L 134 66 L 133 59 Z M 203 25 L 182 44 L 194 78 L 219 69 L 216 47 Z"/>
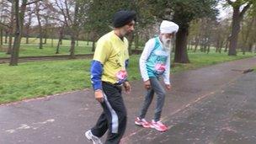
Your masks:
<path fill-rule="evenodd" d="M 0 65 L 0 104 L 88 88 L 88 70 L 88 60 Z"/>

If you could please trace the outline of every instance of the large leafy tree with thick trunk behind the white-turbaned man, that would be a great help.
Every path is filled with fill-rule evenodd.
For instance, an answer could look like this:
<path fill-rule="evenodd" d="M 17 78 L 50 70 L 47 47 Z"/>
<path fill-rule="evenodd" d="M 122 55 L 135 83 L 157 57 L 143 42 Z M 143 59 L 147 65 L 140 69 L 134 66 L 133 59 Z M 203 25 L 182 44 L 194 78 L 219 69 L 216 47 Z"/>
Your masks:
<path fill-rule="evenodd" d="M 216 0 L 152 0 L 152 7 L 160 19 L 173 20 L 179 24 L 176 34 L 174 62 L 188 63 L 187 39 L 189 24 L 194 19 L 216 16 Z"/>

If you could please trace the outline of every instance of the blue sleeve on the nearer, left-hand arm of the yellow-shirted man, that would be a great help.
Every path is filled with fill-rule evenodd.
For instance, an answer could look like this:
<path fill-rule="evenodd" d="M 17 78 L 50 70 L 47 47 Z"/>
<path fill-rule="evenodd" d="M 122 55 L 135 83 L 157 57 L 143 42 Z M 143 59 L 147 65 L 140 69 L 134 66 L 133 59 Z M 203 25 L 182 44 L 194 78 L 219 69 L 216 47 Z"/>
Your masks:
<path fill-rule="evenodd" d="M 99 61 L 92 61 L 91 64 L 91 81 L 93 84 L 93 89 L 102 89 L 101 76 L 103 72 L 102 64 Z"/>

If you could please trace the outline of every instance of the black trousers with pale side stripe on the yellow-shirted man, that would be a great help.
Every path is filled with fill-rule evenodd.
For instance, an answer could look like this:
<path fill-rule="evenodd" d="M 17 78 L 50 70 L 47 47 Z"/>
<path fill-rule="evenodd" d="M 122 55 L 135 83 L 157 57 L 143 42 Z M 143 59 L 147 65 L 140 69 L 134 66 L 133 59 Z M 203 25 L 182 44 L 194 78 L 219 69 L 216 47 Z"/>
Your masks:
<path fill-rule="evenodd" d="M 102 83 L 104 91 L 104 102 L 101 103 L 104 111 L 99 116 L 99 120 L 92 128 L 94 136 L 104 136 L 109 130 L 106 144 L 120 143 L 125 133 L 127 113 L 124 100 L 121 96 L 121 87 L 110 83 Z"/>

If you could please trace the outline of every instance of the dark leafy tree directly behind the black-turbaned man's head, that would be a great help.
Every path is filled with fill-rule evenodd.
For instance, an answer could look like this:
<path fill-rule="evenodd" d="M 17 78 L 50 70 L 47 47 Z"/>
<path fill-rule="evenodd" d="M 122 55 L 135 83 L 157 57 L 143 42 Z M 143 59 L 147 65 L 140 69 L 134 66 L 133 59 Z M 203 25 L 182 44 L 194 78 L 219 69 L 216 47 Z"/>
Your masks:
<path fill-rule="evenodd" d="M 136 45 L 138 45 L 139 33 L 141 33 L 146 28 L 148 24 L 152 24 L 155 19 L 153 14 L 153 8 L 150 1 L 144 0 L 132 0 L 132 1 L 122 1 L 122 0 L 93 0 L 89 3 L 88 9 L 88 23 L 84 26 L 85 29 L 93 32 L 93 48 L 95 49 L 95 41 L 99 36 L 104 35 L 113 29 L 112 19 L 113 15 L 119 10 L 134 10 L 136 11 L 136 29 L 131 35 L 128 35 L 129 40 L 129 50 L 131 53 L 131 45 L 136 39 Z"/>

